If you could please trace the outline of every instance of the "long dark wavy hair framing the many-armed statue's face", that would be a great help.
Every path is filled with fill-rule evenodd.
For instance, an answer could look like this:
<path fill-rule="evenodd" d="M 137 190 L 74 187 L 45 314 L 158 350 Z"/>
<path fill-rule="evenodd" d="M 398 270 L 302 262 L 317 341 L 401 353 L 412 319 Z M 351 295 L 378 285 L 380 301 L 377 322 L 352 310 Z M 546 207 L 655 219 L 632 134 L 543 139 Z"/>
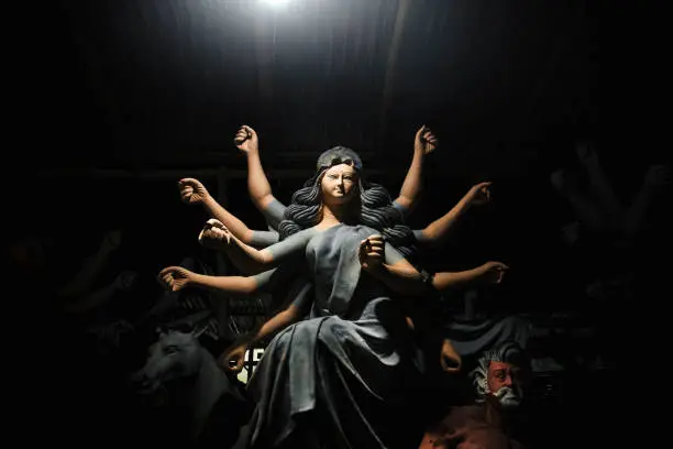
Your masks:
<path fill-rule="evenodd" d="M 415 251 L 413 232 L 404 225 L 402 215 L 393 206 L 388 190 L 363 179 L 360 157 L 353 150 L 344 146 L 335 146 L 322 153 L 318 160 L 316 174 L 304 183 L 304 187 L 295 191 L 278 226 L 280 240 L 318 225 L 322 209 L 320 196 L 322 176 L 330 167 L 339 164 L 351 165 L 358 174 L 360 197 L 354 199 L 358 204 L 353 205 L 357 210 L 351 215 L 346 223 L 374 228 L 405 256 L 410 255 Z"/>

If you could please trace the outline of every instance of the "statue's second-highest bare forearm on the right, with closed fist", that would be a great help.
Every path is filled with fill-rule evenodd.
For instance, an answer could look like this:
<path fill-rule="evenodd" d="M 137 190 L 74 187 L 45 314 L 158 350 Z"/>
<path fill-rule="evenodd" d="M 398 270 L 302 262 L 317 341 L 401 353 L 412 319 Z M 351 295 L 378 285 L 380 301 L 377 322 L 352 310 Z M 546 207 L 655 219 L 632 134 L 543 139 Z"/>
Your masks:
<path fill-rule="evenodd" d="M 454 225 L 471 207 L 490 201 L 490 190 L 488 189 L 490 184 L 486 182 L 472 186 L 449 212 L 428 225 L 424 229 L 413 231 L 416 239 L 420 243 L 430 247 L 440 245 L 446 239 Z"/>

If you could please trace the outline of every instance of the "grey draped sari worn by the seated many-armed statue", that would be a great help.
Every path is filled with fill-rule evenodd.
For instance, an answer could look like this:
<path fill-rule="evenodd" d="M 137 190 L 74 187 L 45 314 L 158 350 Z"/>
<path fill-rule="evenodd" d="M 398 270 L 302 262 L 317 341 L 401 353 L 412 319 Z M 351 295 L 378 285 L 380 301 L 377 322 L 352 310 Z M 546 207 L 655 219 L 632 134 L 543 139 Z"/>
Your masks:
<path fill-rule="evenodd" d="M 399 425 L 419 376 L 409 330 L 357 260 L 360 242 L 375 233 L 339 225 L 269 247 L 274 259 L 305 255 L 316 291 L 302 297 L 313 300 L 310 317 L 272 340 L 251 379 L 256 407 L 238 447 L 418 445 L 417 429 Z M 400 258 L 386 244 L 386 263 Z"/>

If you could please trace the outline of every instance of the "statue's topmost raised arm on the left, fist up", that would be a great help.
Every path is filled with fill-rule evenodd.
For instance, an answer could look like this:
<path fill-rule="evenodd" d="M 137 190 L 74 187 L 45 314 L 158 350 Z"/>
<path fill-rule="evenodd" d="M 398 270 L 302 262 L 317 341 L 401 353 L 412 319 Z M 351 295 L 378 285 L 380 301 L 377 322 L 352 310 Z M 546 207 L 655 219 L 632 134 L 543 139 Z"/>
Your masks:
<path fill-rule="evenodd" d="M 239 150 L 245 153 L 247 158 L 247 193 L 250 198 L 272 228 L 278 229 L 278 223 L 283 220 L 285 206 L 274 197 L 264 167 L 262 167 L 257 133 L 244 124 L 236 132 L 234 143 Z"/>

